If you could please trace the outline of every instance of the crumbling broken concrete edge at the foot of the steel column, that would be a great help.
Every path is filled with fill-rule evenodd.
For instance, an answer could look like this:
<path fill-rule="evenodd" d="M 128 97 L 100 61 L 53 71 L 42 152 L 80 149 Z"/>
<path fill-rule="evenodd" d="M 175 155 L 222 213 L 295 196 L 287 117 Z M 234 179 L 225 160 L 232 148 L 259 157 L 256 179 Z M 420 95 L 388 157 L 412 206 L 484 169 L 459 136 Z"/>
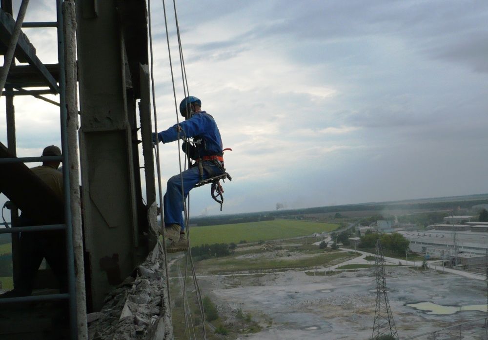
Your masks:
<path fill-rule="evenodd" d="M 146 260 L 88 314 L 92 340 L 173 340 L 164 252 L 158 241 Z M 135 278 L 134 278 L 135 277 Z"/>

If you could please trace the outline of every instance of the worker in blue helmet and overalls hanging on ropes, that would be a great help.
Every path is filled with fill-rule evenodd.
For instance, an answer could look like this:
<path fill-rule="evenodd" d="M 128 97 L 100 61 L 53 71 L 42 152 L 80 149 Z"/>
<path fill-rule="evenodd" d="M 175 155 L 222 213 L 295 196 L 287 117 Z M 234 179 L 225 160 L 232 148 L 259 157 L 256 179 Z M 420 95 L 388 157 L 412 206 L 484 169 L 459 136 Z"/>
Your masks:
<path fill-rule="evenodd" d="M 183 151 L 195 160 L 191 168 L 183 171 L 181 176 L 178 174 L 171 177 L 167 183 L 163 199 L 165 236 L 171 241 L 166 247 L 167 252 L 188 249 L 182 211 L 183 200 L 190 190 L 201 180 L 225 173 L 219 128 L 214 118 L 202 111 L 202 101 L 194 96 L 184 98 L 180 103 L 180 113 L 185 121 L 152 135 L 155 144 L 185 139 Z M 188 138 L 193 138 L 194 145 L 187 142 Z"/>

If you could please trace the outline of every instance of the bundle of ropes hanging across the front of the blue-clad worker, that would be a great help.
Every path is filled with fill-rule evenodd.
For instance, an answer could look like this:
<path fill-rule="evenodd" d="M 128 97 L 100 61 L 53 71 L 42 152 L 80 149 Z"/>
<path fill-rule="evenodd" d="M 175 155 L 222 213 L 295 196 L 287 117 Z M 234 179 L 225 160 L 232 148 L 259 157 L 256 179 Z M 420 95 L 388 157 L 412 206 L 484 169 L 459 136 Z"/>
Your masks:
<path fill-rule="evenodd" d="M 183 48 L 182 48 L 180 29 L 179 29 L 179 24 L 178 24 L 176 2 L 174 0 L 173 0 L 173 5 L 174 5 L 174 10 L 175 10 L 175 19 L 176 19 L 176 26 L 177 26 L 178 47 L 179 47 L 179 53 L 180 53 L 180 65 L 182 67 L 183 91 L 184 91 L 185 97 L 186 97 L 186 90 L 188 88 L 188 81 L 186 78 L 186 71 L 185 71 L 186 69 L 184 67 Z M 176 121 L 177 121 L 177 124 L 179 126 L 180 119 L 179 119 L 179 114 L 178 114 L 178 104 L 177 104 L 177 100 L 176 100 L 176 86 L 175 86 L 175 79 L 174 79 L 174 73 L 173 73 L 173 63 L 172 63 L 172 58 L 171 58 L 171 48 L 169 45 L 169 34 L 168 34 L 168 24 L 167 24 L 165 0 L 163 0 L 163 11 L 164 11 L 164 25 L 165 25 L 165 29 L 166 29 L 166 41 L 167 41 L 167 45 L 168 45 L 169 64 L 170 64 L 170 70 L 171 70 L 171 82 L 173 85 L 173 97 L 174 97 L 174 102 L 175 102 Z M 186 83 L 186 86 L 185 86 L 185 83 Z M 186 201 L 184 198 L 184 189 L 183 189 L 183 170 L 182 170 L 182 157 L 181 157 L 181 146 L 180 146 L 180 138 L 181 138 L 180 133 L 181 132 L 182 132 L 182 129 L 178 129 L 178 159 L 179 159 L 179 166 L 180 166 L 180 180 L 181 180 L 182 199 L 183 199 L 184 222 L 186 224 L 186 240 L 187 240 L 186 242 L 188 245 L 187 257 L 189 257 L 189 259 L 190 259 L 190 263 L 191 263 L 191 267 L 192 267 L 192 273 L 193 273 L 193 282 L 195 284 L 195 291 L 196 291 L 196 295 L 197 295 L 197 302 L 198 302 L 200 314 L 202 317 L 203 339 L 206 339 L 205 312 L 203 310 L 202 295 L 201 295 L 200 286 L 198 284 L 197 277 L 196 277 L 193 258 L 191 256 L 190 227 L 189 227 L 189 225 L 190 225 L 189 220 L 190 219 L 189 219 L 189 214 L 188 214 L 188 208 L 187 208 Z M 186 165 L 186 159 L 185 159 L 185 165 Z M 188 195 L 188 205 L 189 205 L 189 195 Z M 185 268 L 185 280 L 184 280 L 184 286 L 183 286 L 183 294 L 185 294 L 185 291 L 186 291 L 186 268 Z"/>

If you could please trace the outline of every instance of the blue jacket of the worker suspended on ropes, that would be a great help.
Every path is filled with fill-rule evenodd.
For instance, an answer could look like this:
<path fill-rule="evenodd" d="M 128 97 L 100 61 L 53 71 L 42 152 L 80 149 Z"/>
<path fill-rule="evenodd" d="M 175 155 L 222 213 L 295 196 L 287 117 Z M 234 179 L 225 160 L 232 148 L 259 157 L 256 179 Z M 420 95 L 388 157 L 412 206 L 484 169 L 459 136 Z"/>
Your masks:
<path fill-rule="evenodd" d="M 222 156 L 222 137 L 220 136 L 219 128 L 215 123 L 214 118 L 201 111 L 194 113 L 190 119 L 180 123 L 182 131 L 180 132 L 180 138 L 186 136 L 186 138 L 201 139 L 200 144 L 195 147 L 190 146 L 190 157 L 196 159 L 202 156 L 219 155 Z M 158 133 L 158 138 L 163 143 L 174 142 L 178 140 L 178 124 L 173 125 L 168 130 Z M 183 146 L 183 151 L 185 150 Z"/>

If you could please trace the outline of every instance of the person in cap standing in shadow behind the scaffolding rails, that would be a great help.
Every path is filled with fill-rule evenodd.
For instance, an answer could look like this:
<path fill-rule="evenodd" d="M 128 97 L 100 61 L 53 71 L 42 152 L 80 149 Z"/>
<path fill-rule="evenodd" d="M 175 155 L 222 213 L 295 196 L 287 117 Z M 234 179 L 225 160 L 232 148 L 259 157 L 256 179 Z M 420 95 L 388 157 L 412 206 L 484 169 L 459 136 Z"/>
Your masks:
<path fill-rule="evenodd" d="M 42 157 L 61 156 L 61 150 L 50 145 L 42 151 Z M 64 202 L 62 173 L 59 161 L 44 161 L 41 166 L 31 168 L 42 182 Z M 20 214 L 19 227 L 34 226 L 36 223 Z M 60 283 L 60 292 L 67 292 L 67 267 L 64 232 L 30 231 L 20 233 L 20 274 L 15 289 L 1 295 L 3 298 L 32 295 L 33 283 L 42 260 L 45 258 Z"/>

